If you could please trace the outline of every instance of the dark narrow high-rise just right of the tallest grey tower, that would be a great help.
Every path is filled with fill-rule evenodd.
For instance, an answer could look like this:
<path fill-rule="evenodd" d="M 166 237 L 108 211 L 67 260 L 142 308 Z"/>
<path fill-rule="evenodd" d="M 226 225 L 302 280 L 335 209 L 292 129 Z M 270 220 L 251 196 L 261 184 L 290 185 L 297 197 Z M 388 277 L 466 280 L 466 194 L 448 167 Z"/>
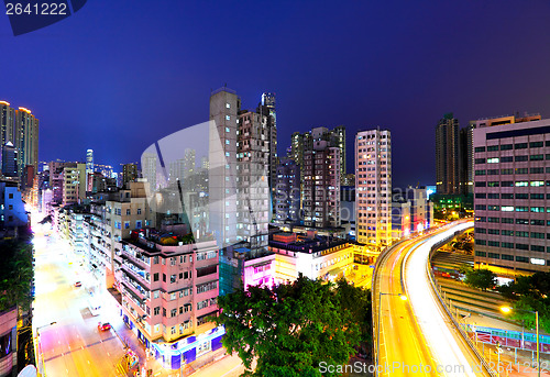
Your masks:
<path fill-rule="evenodd" d="M 277 166 L 275 179 L 275 217 L 278 222 L 295 222 L 300 215 L 300 167 L 285 158 Z"/>

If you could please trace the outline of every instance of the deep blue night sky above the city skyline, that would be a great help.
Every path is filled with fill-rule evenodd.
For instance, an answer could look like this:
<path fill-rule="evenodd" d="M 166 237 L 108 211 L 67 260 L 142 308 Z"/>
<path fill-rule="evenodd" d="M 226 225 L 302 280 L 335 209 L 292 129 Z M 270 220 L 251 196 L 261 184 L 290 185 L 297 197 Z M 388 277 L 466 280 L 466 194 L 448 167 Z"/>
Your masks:
<path fill-rule="evenodd" d="M 435 182 L 435 125 L 550 115 L 550 2 L 99 0 L 13 36 L 0 15 L 0 100 L 41 121 L 40 159 L 135 162 L 208 120 L 211 89 L 294 131 L 389 129 L 394 186 Z"/>

